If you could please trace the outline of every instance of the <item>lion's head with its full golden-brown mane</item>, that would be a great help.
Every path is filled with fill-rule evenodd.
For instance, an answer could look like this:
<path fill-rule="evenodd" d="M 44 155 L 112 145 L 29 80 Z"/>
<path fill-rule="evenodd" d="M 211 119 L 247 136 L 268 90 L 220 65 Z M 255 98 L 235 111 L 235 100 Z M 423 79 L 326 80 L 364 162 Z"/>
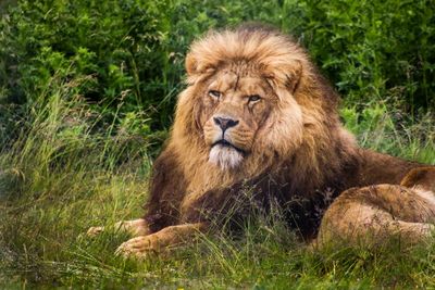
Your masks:
<path fill-rule="evenodd" d="M 295 155 L 319 166 L 322 148 L 346 135 L 336 94 L 276 30 L 211 31 L 192 43 L 186 71 L 172 136 L 186 171 L 246 176 Z"/>

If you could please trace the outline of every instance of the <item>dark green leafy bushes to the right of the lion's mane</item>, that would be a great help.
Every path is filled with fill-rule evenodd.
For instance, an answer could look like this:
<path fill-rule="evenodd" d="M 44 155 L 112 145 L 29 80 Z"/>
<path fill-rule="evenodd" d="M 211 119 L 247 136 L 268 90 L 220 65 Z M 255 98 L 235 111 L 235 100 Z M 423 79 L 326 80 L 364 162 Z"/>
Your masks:
<path fill-rule="evenodd" d="M 283 16 L 290 17 L 283 17 L 282 28 L 301 36 L 348 100 L 364 103 L 394 94 L 409 111 L 434 108 L 432 1 L 285 2 Z"/>

